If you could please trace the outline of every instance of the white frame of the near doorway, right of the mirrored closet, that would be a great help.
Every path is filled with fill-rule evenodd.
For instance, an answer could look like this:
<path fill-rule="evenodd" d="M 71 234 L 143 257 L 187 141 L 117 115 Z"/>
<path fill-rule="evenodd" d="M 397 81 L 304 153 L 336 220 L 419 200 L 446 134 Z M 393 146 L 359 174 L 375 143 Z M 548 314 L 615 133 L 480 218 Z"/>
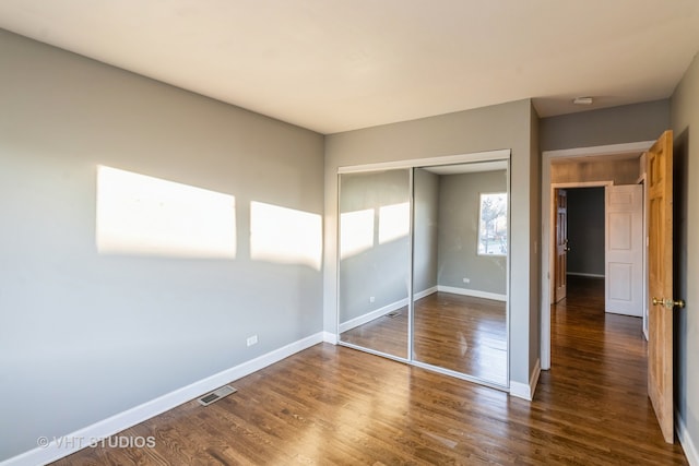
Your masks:
<path fill-rule="evenodd" d="M 576 147 L 557 151 L 542 152 L 542 276 L 541 276 L 541 368 L 550 369 L 550 304 L 552 304 L 552 228 L 553 228 L 553 188 L 550 182 L 550 165 L 554 159 L 615 156 L 624 154 L 642 154 L 648 151 L 655 141 L 639 141 L 624 144 L 599 145 L 591 147 Z M 599 182 L 597 182 L 599 183 Z M 569 183 L 557 183 L 569 184 Z M 578 183 L 581 184 L 581 183 Z M 599 184 L 597 184 L 599 186 Z M 561 187 L 562 188 L 562 187 Z M 548 212 L 548 215 L 545 213 Z"/>

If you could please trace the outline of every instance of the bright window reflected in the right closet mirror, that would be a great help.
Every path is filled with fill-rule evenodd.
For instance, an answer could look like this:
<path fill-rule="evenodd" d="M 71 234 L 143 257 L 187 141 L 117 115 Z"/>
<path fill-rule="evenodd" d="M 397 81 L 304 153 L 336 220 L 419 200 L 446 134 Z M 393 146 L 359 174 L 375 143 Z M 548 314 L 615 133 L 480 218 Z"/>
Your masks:
<path fill-rule="evenodd" d="M 478 254 L 507 255 L 507 193 L 481 194 Z"/>

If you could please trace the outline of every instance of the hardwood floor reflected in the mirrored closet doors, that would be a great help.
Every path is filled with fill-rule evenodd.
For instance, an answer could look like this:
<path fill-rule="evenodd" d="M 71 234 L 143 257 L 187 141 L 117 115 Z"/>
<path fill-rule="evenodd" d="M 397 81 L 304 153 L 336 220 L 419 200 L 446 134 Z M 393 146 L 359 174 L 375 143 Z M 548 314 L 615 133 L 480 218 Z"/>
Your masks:
<path fill-rule="evenodd" d="M 415 301 L 414 358 L 420 362 L 507 384 L 505 302 L 434 292 Z M 407 308 L 342 334 L 342 340 L 407 357 Z"/>

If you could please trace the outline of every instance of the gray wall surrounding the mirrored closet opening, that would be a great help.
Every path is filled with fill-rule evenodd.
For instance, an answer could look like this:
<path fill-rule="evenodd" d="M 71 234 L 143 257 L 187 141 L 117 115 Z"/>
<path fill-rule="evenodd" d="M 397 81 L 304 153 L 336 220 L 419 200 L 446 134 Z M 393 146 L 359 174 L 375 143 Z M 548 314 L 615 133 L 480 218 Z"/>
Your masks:
<path fill-rule="evenodd" d="M 510 380 L 529 385 L 538 359 L 538 131 L 531 100 L 519 100 L 325 138 L 324 328 L 336 332 L 337 168 L 511 148 Z"/>

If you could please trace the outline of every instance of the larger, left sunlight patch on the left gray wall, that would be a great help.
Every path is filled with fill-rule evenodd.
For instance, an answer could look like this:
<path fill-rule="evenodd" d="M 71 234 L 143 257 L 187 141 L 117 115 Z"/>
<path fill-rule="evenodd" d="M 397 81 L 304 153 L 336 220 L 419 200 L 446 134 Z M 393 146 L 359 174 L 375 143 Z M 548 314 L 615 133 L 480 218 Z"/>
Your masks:
<path fill-rule="evenodd" d="M 236 256 L 235 198 L 97 166 L 97 251 L 174 258 Z"/>

